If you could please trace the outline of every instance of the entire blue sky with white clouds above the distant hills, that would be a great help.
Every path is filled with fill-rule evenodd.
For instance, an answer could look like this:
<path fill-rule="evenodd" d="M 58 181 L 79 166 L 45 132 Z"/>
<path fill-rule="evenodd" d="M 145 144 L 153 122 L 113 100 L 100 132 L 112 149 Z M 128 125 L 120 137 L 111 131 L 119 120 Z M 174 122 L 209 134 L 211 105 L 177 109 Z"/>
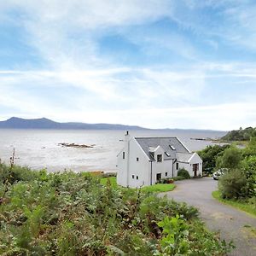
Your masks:
<path fill-rule="evenodd" d="M 256 126 L 254 0 L 0 0 L 0 120 Z"/>

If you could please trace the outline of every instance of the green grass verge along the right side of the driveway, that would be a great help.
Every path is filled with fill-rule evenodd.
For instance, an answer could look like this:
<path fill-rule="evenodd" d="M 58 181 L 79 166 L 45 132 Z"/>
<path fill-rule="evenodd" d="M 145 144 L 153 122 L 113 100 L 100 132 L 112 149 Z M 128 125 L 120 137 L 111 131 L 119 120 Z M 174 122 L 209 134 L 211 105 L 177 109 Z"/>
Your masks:
<path fill-rule="evenodd" d="M 251 215 L 253 215 L 253 217 L 256 217 L 256 206 L 253 205 L 252 203 L 250 204 L 247 201 L 234 201 L 223 199 L 221 198 L 221 194 L 218 190 L 212 192 L 212 197 L 226 205 L 235 207 L 241 211 L 250 213 Z"/>

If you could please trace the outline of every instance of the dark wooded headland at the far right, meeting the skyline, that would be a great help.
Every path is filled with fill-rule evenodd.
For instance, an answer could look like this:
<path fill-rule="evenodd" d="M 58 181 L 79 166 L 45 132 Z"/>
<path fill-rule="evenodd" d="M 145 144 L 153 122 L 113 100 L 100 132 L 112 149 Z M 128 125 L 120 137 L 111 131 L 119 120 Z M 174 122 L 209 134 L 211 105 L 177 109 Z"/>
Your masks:
<path fill-rule="evenodd" d="M 256 136 L 256 128 L 247 127 L 245 129 L 229 131 L 221 139 L 224 141 L 249 141 L 250 137 Z"/>

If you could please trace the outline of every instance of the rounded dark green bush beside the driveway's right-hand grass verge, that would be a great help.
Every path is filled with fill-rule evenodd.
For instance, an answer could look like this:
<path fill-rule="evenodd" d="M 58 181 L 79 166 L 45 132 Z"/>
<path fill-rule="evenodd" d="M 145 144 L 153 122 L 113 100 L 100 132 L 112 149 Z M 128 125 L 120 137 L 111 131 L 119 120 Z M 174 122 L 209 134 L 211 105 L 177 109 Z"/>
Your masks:
<path fill-rule="evenodd" d="M 218 189 L 224 199 L 247 197 L 247 177 L 241 170 L 231 169 L 219 178 Z"/>

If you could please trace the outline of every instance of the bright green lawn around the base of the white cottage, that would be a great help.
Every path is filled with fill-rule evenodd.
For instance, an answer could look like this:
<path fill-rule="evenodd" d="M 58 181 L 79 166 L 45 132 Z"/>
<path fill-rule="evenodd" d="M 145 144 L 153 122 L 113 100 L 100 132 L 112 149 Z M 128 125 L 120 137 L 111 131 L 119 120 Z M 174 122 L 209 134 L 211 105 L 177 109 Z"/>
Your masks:
<path fill-rule="evenodd" d="M 110 180 L 111 185 L 113 188 L 117 188 L 118 184 L 116 183 L 116 177 L 102 177 L 101 183 L 102 185 L 107 185 L 108 179 Z M 167 192 L 172 191 L 175 189 L 176 185 L 174 184 L 154 184 L 152 186 L 143 187 L 143 192 Z"/>

